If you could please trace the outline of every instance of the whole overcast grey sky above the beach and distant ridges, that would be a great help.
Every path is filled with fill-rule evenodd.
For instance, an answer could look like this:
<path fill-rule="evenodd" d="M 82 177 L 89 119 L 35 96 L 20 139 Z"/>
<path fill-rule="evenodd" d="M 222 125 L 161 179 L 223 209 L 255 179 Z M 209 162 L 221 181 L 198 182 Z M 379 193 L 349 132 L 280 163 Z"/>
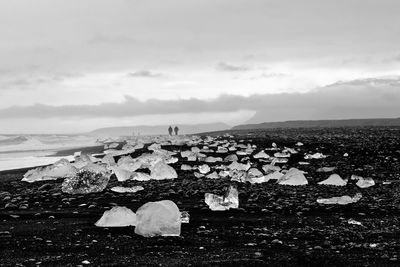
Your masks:
<path fill-rule="evenodd" d="M 0 132 L 400 116 L 398 0 L 0 0 Z"/>

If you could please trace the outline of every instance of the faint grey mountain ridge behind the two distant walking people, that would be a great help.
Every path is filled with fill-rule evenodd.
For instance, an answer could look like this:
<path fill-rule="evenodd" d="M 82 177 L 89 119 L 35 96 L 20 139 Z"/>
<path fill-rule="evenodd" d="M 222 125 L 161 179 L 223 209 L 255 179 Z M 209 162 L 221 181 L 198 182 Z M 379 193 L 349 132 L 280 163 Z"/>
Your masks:
<path fill-rule="evenodd" d="M 170 125 L 137 125 L 126 127 L 107 127 L 91 131 L 90 135 L 96 136 L 130 136 L 130 135 L 163 135 L 168 134 Z M 175 125 L 171 125 L 173 128 Z M 231 126 L 225 123 L 207 123 L 207 124 L 177 124 L 179 134 L 195 134 L 201 132 L 228 130 Z"/>

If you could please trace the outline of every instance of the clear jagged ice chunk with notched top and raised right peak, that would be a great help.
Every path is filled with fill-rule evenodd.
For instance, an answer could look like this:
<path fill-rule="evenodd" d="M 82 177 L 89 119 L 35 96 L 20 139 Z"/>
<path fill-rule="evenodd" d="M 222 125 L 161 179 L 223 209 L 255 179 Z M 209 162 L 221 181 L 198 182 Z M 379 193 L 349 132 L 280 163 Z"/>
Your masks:
<path fill-rule="evenodd" d="M 239 192 L 230 186 L 225 196 L 218 196 L 211 193 L 205 194 L 205 202 L 213 211 L 237 209 L 239 207 Z"/>

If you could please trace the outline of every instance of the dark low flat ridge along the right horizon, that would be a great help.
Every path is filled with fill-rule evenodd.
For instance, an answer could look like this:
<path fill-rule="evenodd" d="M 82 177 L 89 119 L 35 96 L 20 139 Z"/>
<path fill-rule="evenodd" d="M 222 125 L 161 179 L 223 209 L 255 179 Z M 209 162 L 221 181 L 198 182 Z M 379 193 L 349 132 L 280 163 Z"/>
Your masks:
<path fill-rule="evenodd" d="M 272 129 L 272 128 L 311 128 L 311 127 L 359 127 L 359 126 L 400 126 L 400 118 L 383 119 L 345 119 L 345 120 L 299 120 L 242 124 L 232 130 Z"/>

